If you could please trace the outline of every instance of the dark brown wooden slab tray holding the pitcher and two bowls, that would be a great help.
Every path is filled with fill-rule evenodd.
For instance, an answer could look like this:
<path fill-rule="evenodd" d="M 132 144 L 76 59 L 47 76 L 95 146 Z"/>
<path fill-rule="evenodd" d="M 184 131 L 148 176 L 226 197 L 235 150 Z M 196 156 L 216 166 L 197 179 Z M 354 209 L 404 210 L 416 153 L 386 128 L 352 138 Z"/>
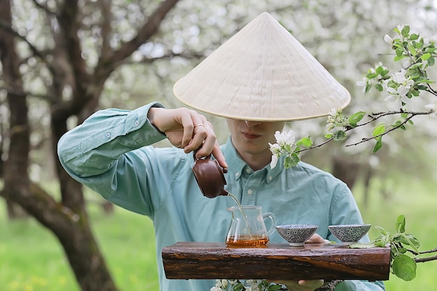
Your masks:
<path fill-rule="evenodd" d="M 221 243 L 178 242 L 162 249 L 169 279 L 388 280 L 390 248 L 342 244 L 269 244 L 230 248 Z"/>

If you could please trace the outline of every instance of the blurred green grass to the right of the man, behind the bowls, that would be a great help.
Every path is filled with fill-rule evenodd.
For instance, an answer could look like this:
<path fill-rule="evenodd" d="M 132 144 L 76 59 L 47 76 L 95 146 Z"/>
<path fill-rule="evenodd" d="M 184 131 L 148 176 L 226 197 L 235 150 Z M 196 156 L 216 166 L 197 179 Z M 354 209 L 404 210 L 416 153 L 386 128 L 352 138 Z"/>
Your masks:
<path fill-rule="evenodd" d="M 410 179 L 404 177 L 390 184 L 390 197 L 387 200 L 380 195 L 381 185 L 374 183 L 370 191 L 369 207 L 364 207 L 362 189 L 357 187 L 354 194 L 357 199 L 364 221 L 372 225 L 379 225 L 385 230 L 395 232 L 394 225 L 397 216 L 406 216 L 406 232 L 410 232 L 420 241 L 420 251 L 437 247 L 436 184 L 431 180 Z M 375 239 L 378 232 L 371 228 L 371 239 Z M 436 255 L 434 253 L 433 255 Z M 394 274 L 385 281 L 388 291 L 416 291 L 436 289 L 435 276 L 437 274 L 437 260 L 417 264 L 417 276 L 413 281 L 403 281 Z"/>

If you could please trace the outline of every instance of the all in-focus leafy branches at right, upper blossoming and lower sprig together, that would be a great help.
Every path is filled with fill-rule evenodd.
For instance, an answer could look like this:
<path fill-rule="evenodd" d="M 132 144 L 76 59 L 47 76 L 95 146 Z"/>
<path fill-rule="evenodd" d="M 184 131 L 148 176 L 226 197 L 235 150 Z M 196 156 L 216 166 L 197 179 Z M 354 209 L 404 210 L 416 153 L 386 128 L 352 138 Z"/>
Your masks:
<path fill-rule="evenodd" d="M 394 130 L 406 130 L 408 124 L 413 125 L 413 117 L 417 115 L 437 117 L 436 103 L 424 105 L 422 111 L 408 109 L 408 103 L 412 98 L 420 98 L 422 94 L 431 94 L 437 97 L 436 89 L 431 87 L 431 84 L 435 82 L 429 79 L 427 72 L 427 69 L 434 66 L 437 58 L 436 40 L 422 38 L 420 34 L 411 33 L 408 25 L 398 26 L 394 32 L 397 33 L 395 38 L 386 35 L 384 39 L 395 52 L 394 61 L 402 61 L 401 68 L 390 75 L 389 69 L 382 63 L 378 63 L 374 68 L 368 70 L 364 79 L 357 82 L 357 85 L 364 87 L 364 93 L 368 93 L 372 87 L 380 92 L 387 92 L 389 95 L 384 100 L 396 103 L 398 109 L 376 113 L 359 111 L 346 116 L 342 114 L 342 110 L 333 108 L 327 116 L 327 130 L 329 130 L 329 133 L 325 135 L 327 141 L 318 145 L 313 145 L 311 137 L 303 137 L 295 142 L 296 138 L 292 131 L 276 132 L 276 143 L 270 144 L 271 167 L 276 166 L 281 156 L 285 157 L 283 165 L 286 168 L 295 166 L 299 162 L 299 154 L 302 151 L 321 147 L 327 142 L 346 140 L 348 131 L 361 126 L 371 126 L 382 117 L 393 116 L 392 122 L 373 126 L 371 137 L 363 137 L 360 142 L 352 144 L 357 145 L 374 140 L 376 142 L 373 146 L 373 153 L 376 153 L 383 147 L 383 136 Z M 332 130 L 334 130 L 333 133 Z M 382 227 L 376 227 L 380 232 L 378 238 L 371 241 L 370 244 L 357 244 L 353 247 L 369 248 L 390 244 L 392 247 L 392 272 L 399 278 L 410 281 L 415 278 L 416 262 L 437 260 L 437 255 L 431 255 L 427 258 L 415 258 L 415 256 L 424 253 L 437 253 L 437 248 L 430 251 L 419 251 L 419 241 L 413 234 L 406 232 L 405 224 L 405 216 L 399 216 L 396 223 L 396 233 L 387 232 Z M 413 258 L 406 255 L 407 252 L 412 253 Z"/>

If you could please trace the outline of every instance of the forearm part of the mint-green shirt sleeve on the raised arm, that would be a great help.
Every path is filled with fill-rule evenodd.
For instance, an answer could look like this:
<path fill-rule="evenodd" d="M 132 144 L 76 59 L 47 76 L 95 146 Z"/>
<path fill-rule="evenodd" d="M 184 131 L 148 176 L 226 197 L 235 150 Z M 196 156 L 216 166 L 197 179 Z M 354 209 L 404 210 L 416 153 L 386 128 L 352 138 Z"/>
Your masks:
<path fill-rule="evenodd" d="M 163 140 L 165 135 L 147 119 L 150 103 L 136 110 L 107 109 L 92 114 L 63 135 L 58 156 L 67 172 L 89 177 L 107 171 L 124 153 Z"/>

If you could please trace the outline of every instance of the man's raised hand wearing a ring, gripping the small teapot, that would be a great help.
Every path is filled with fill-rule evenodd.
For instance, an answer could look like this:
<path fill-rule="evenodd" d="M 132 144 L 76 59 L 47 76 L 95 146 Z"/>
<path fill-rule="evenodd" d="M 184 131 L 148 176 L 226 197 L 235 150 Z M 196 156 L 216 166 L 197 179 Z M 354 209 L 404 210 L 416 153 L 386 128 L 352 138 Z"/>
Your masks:
<path fill-rule="evenodd" d="M 222 167 L 228 167 L 212 124 L 206 117 L 187 108 L 165 109 L 152 107 L 147 116 L 151 124 L 167 135 L 175 147 L 186 153 L 196 152 L 198 158 L 212 154 Z"/>

